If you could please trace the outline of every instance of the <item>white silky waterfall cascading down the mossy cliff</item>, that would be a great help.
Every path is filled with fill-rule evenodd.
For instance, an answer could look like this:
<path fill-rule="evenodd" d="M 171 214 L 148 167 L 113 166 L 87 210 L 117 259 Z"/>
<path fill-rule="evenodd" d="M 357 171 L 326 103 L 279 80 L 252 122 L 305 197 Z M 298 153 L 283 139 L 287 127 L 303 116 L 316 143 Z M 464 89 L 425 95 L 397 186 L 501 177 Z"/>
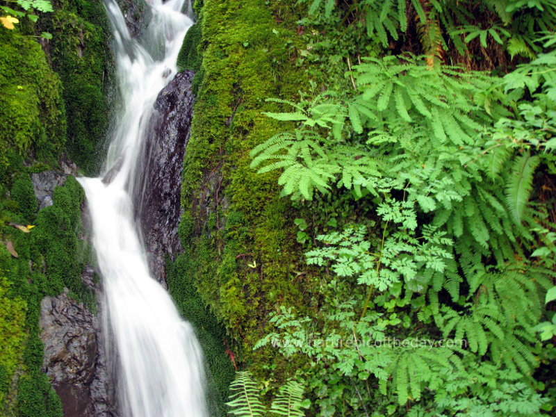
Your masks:
<path fill-rule="evenodd" d="M 130 197 L 154 101 L 175 74 L 181 42 L 193 24 L 181 13 L 184 3 L 150 0 L 152 20 L 140 44 L 131 39 L 115 1 L 105 0 L 123 108 L 108 149 L 104 181 L 103 177 L 79 179 L 87 195 L 93 245 L 104 278 L 105 334 L 113 338 L 117 396 L 126 417 L 208 415 L 199 343 L 169 295 L 149 275 Z"/>

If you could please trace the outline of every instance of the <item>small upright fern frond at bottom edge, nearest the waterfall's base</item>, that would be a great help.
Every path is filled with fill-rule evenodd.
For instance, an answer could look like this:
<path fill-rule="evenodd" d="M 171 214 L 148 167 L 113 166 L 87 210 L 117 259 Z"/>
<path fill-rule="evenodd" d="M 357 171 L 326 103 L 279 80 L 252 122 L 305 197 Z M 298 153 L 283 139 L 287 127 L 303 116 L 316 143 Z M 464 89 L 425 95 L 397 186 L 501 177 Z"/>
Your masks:
<path fill-rule="evenodd" d="M 266 408 L 259 400 L 259 387 L 250 373 L 243 371 L 236 373 L 234 382 L 230 385 L 230 396 L 227 406 L 230 414 L 240 417 L 263 417 Z"/>

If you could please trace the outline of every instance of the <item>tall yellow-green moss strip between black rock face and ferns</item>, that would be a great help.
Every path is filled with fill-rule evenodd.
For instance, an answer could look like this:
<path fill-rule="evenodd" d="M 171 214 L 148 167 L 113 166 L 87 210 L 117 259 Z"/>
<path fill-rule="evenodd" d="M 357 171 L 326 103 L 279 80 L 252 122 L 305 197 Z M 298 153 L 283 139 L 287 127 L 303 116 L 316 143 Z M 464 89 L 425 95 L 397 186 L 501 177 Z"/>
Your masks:
<path fill-rule="evenodd" d="M 310 296 L 306 281 L 295 278 L 304 265 L 295 243 L 296 212 L 279 198 L 275 176 L 249 167 L 250 149 L 284 128 L 261 114 L 278 109 L 265 99 L 295 99 L 304 85 L 309 88 L 304 69 L 290 57 L 299 42 L 295 1 L 266 3 L 204 0 L 200 10 L 196 3 L 202 77 L 183 165 L 179 228 L 188 248 L 182 279 L 193 280 L 232 336 L 236 359 L 255 373 L 273 360 L 270 350 L 252 352 L 268 313 L 280 304 L 302 310 Z"/>

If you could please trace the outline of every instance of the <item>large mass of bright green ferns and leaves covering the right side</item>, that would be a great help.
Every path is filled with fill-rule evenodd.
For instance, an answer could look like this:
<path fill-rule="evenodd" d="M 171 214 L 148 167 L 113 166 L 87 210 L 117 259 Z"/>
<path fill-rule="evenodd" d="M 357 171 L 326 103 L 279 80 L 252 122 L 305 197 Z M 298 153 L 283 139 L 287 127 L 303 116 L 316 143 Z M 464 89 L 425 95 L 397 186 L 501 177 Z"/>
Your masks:
<path fill-rule="evenodd" d="M 310 362 L 297 375 L 309 379 L 318 416 L 368 414 L 368 401 L 414 416 L 545 407 L 532 374 L 536 332 L 552 329 L 539 321 L 555 236 L 529 199 L 537 170 L 554 167 L 553 77 L 534 70 L 551 54 L 503 79 L 431 67 L 426 56 L 362 58 L 348 74 L 356 91 L 266 113 L 295 123 L 251 153 L 259 173 L 281 172 L 282 195 L 349 193 L 374 211 L 372 230 L 316 236 L 306 256 L 322 268 L 320 311 L 271 314 L 275 331 L 255 345 Z M 338 383 L 341 393 L 330 389 Z"/>

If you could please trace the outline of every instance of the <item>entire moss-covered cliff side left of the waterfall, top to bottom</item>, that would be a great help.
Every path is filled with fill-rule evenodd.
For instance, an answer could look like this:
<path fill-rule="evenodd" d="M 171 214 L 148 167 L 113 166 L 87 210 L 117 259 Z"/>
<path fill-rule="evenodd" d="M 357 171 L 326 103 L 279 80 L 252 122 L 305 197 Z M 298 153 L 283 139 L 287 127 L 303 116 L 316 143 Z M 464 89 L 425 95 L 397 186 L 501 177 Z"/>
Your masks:
<path fill-rule="evenodd" d="M 0 27 L 2 416 L 61 416 L 60 400 L 41 369 L 40 302 L 63 288 L 92 301 L 81 283 L 88 259 L 79 238 L 83 190 L 67 177 L 54 191 L 54 205 L 39 211 L 31 174 L 60 170 L 62 154 L 84 172 L 94 170 L 109 117 L 108 31 L 99 1 L 55 2 L 54 8 L 37 23 Z M 52 40 L 35 36 L 41 31 Z"/>

